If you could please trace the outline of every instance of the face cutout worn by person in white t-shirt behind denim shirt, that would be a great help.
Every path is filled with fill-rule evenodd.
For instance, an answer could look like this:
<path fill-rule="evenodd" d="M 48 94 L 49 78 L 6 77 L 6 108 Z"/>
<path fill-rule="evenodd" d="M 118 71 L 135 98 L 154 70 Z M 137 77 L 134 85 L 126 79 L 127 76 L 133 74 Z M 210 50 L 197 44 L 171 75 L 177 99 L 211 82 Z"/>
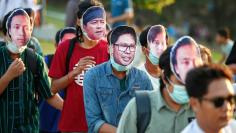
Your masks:
<path fill-rule="evenodd" d="M 159 57 L 166 50 L 166 32 L 162 25 L 152 26 L 147 34 L 147 45 L 149 48 L 149 60 L 152 64 L 159 63 Z"/>

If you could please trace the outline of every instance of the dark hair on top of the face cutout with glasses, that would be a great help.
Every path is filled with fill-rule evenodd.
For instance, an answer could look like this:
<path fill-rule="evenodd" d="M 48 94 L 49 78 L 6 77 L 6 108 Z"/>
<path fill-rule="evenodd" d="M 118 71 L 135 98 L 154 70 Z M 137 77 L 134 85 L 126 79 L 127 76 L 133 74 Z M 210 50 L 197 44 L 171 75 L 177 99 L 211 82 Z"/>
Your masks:
<path fill-rule="evenodd" d="M 136 32 L 132 27 L 118 26 L 108 33 L 107 41 L 109 45 L 114 44 L 119 39 L 119 37 L 123 34 L 130 34 L 131 36 L 133 36 L 135 40 L 135 44 L 137 43 Z"/>

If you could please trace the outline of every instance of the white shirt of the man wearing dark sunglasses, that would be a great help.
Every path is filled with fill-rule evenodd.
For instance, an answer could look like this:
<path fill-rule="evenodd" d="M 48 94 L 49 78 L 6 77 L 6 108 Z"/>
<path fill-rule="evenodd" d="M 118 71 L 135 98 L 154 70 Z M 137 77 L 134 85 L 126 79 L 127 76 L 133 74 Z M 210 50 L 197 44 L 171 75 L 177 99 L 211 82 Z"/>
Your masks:
<path fill-rule="evenodd" d="M 205 133 L 197 124 L 196 119 L 193 120 L 181 133 Z M 236 133 L 236 121 L 231 120 L 227 126 L 222 129 L 222 133 Z"/>

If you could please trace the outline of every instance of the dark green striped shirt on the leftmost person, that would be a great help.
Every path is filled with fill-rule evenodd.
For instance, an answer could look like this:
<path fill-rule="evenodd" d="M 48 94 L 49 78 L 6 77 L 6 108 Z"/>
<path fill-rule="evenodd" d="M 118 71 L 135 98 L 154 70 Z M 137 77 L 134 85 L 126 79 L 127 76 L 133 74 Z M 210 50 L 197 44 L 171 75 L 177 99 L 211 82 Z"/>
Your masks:
<path fill-rule="evenodd" d="M 22 75 L 12 80 L 0 95 L 0 133 L 39 132 L 39 111 L 35 97 L 33 73 L 29 69 L 25 51 L 20 54 L 20 58 L 23 60 L 26 70 Z M 41 97 L 47 99 L 52 96 L 49 79 L 43 58 L 37 54 L 36 59 L 39 73 L 37 92 Z M 5 46 L 0 48 L 0 77 L 4 75 L 12 62 L 7 48 Z"/>

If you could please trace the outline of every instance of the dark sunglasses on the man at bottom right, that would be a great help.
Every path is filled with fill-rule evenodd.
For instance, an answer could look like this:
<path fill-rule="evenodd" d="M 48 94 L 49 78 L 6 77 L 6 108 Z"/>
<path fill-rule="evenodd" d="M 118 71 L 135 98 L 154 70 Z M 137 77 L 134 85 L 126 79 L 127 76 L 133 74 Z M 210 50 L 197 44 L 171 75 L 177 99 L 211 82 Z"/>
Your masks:
<path fill-rule="evenodd" d="M 231 95 L 228 97 L 215 97 L 215 98 L 200 98 L 200 100 L 209 101 L 214 104 L 215 108 L 220 108 L 224 105 L 225 101 L 229 102 L 231 105 L 236 103 L 236 95 Z"/>

